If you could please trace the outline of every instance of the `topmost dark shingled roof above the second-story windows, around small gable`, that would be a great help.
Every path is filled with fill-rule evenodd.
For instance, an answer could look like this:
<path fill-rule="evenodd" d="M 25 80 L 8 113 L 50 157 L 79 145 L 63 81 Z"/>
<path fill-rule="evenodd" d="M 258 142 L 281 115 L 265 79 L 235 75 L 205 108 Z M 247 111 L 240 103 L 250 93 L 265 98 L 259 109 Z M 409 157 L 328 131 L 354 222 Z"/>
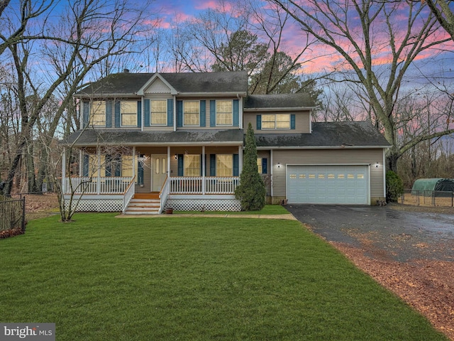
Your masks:
<path fill-rule="evenodd" d="M 92 82 L 75 97 L 87 96 L 137 96 L 152 78 L 159 77 L 178 94 L 240 94 L 248 91 L 248 72 L 177 72 L 129 73 L 120 72 Z"/>

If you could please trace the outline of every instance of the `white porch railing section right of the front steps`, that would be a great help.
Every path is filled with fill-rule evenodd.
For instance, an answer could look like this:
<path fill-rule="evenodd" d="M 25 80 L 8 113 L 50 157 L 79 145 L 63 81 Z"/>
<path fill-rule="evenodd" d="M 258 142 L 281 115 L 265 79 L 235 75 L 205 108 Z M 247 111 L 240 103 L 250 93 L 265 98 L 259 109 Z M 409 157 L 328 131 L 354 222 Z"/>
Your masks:
<path fill-rule="evenodd" d="M 172 194 L 233 194 L 238 176 L 177 176 L 169 178 Z"/>

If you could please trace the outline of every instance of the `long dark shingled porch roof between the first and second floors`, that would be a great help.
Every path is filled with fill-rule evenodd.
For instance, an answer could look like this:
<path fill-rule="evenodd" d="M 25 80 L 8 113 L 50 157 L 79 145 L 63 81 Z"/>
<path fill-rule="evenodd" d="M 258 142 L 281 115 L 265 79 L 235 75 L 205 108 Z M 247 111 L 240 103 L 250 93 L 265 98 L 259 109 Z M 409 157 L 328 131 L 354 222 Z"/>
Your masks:
<path fill-rule="evenodd" d="M 243 129 L 192 130 L 192 131 L 118 131 L 93 129 L 76 131 L 62 144 L 73 146 L 243 146 Z"/>

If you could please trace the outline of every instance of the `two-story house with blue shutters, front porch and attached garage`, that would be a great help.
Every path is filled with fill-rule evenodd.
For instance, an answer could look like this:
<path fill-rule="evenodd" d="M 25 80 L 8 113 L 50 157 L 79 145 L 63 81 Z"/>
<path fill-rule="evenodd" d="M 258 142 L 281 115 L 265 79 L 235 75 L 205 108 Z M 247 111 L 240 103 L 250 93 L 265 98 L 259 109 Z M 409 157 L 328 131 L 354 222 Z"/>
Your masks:
<path fill-rule="evenodd" d="M 389 144 L 370 122 L 312 123 L 309 95 L 247 89 L 246 72 L 121 72 L 92 83 L 75 94 L 82 129 L 65 143 L 79 150 L 79 176 L 63 178 L 63 190 L 83 184 L 78 210 L 240 210 L 251 123 L 268 202 L 384 200 Z"/>

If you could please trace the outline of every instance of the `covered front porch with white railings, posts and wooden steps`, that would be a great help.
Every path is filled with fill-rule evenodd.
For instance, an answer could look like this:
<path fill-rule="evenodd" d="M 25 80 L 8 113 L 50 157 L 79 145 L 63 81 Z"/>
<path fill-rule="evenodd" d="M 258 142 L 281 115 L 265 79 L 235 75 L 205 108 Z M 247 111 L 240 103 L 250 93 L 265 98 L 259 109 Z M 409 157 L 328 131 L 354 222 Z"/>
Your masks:
<path fill-rule="evenodd" d="M 240 210 L 234 193 L 242 146 L 132 146 L 125 151 L 81 148 L 79 175 L 62 178 L 66 205 L 72 197 L 78 211 Z"/>

